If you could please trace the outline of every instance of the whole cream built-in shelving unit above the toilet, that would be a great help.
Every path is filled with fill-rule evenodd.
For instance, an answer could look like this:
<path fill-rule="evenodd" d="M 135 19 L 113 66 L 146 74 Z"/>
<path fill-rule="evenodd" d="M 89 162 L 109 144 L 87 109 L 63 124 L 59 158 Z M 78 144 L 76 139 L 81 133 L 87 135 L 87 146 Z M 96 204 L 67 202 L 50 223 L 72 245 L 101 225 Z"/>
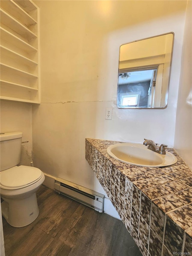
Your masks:
<path fill-rule="evenodd" d="M 0 4 L 0 98 L 39 104 L 38 7 L 31 0 Z"/>

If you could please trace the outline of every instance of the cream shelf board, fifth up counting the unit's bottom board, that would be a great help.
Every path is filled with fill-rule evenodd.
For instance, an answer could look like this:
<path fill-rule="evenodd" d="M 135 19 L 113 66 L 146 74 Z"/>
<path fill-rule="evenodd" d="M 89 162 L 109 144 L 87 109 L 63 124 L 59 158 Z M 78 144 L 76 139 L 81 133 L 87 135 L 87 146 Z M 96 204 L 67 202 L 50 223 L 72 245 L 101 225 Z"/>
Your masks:
<path fill-rule="evenodd" d="M 38 51 L 38 49 L 36 49 L 32 45 L 26 43 L 22 39 L 16 37 L 15 35 L 11 34 L 6 29 L 1 28 L 1 27 L 0 27 L 0 35 L 1 35 L 1 39 L 4 39 L 4 41 L 7 41 L 8 43 L 14 42 L 14 45 L 16 47 L 18 47 L 19 49 L 24 50 L 28 53 L 33 53 L 33 52 Z"/>

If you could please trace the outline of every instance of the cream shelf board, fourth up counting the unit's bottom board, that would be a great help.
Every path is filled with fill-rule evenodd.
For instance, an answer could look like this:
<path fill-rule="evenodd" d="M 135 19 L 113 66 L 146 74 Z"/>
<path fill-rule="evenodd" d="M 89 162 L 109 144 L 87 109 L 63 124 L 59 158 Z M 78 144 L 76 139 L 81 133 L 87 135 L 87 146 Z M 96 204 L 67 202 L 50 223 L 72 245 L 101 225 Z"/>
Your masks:
<path fill-rule="evenodd" d="M 16 62 L 22 62 L 23 64 L 25 64 L 28 67 L 34 67 L 37 66 L 38 63 L 26 58 L 25 56 L 22 56 L 21 54 L 18 54 L 4 46 L 1 46 L 1 53 L 4 53 L 6 55 L 6 57 L 10 58 L 10 59 L 14 59 Z"/>

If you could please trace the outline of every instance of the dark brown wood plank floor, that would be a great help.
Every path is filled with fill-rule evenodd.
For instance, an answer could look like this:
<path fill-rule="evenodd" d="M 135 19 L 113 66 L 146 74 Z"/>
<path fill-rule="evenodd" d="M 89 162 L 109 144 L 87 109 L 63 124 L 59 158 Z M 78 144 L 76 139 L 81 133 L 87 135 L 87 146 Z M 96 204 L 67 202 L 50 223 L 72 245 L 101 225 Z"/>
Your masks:
<path fill-rule="evenodd" d="M 3 218 L 6 256 L 141 256 L 122 221 L 41 186 L 40 213 L 26 227 Z"/>

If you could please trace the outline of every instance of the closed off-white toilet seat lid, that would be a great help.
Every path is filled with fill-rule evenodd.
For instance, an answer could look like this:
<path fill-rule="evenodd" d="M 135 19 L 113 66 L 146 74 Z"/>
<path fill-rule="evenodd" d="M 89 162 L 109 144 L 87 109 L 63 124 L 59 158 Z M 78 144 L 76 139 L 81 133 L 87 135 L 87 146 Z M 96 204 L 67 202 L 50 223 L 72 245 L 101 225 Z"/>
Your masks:
<path fill-rule="evenodd" d="M 5 189 L 24 188 L 41 179 L 40 169 L 31 166 L 14 166 L 0 173 L 0 185 Z"/>

